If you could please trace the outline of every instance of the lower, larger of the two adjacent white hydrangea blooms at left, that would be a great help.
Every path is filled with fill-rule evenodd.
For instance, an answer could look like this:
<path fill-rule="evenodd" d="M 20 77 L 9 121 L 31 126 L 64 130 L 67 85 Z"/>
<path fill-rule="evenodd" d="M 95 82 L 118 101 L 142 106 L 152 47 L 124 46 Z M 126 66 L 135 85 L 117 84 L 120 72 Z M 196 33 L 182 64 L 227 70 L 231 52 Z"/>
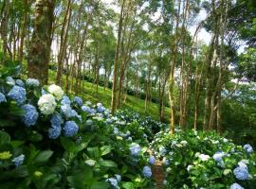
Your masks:
<path fill-rule="evenodd" d="M 39 110 L 46 115 L 53 113 L 57 106 L 55 98 L 52 94 L 43 94 L 39 98 L 37 104 L 39 106 Z"/>

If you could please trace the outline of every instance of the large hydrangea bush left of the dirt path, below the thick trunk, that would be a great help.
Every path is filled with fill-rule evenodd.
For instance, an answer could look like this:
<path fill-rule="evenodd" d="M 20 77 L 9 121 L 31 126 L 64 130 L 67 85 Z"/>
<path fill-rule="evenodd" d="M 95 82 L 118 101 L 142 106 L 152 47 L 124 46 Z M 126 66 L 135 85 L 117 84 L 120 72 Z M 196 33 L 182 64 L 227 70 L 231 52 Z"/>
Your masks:
<path fill-rule="evenodd" d="M 147 138 L 101 103 L 34 78 L 0 90 L 0 188 L 154 188 Z"/>

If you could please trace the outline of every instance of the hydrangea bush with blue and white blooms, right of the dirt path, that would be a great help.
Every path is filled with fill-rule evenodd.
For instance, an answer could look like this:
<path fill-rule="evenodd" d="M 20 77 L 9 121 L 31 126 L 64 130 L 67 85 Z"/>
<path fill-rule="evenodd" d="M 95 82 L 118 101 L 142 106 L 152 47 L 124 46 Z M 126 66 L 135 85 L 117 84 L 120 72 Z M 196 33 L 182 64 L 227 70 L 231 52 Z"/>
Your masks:
<path fill-rule="evenodd" d="M 166 188 L 254 188 L 256 155 L 215 132 L 169 129 L 155 135 L 152 148 L 162 160 Z"/>

